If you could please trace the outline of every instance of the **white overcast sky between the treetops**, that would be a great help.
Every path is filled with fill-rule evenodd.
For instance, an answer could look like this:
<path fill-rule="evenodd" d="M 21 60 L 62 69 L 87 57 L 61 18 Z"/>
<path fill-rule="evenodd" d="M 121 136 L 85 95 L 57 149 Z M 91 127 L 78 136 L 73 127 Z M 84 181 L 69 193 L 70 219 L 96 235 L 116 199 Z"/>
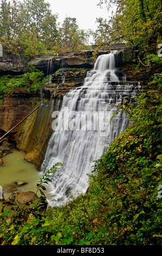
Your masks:
<path fill-rule="evenodd" d="M 67 17 L 76 18 L 80 29 L 96 29 L 96 18 L 109 19 L 106 6 L 103 9 L 97 5 L 99 0 L 45 0 L 51 6 L 53 14 L 59 14 L 59 22 Z"/>

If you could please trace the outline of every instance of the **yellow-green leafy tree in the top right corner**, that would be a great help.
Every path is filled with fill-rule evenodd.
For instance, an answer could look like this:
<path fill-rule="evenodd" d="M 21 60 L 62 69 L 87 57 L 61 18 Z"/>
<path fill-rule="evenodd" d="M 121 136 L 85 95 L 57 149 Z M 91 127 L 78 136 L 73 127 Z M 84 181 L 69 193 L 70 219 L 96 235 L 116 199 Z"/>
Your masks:
<path fill-rule="evenodd" d="M 107 8 L 117 6 L 111 23 L 110 41 L 139 45 L 143 56 L 155 53 L 161 35 L 161 0 L 105 0 Z M 100 0 L 100 5 L 103 0 Z"/>

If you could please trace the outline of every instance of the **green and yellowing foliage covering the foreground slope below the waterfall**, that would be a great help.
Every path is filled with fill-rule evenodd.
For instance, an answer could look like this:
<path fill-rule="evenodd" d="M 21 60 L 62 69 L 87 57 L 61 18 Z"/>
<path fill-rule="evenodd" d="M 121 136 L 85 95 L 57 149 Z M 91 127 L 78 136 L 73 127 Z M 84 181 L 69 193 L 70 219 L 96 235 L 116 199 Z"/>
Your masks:
<path fill-rule="evenodd" d="M 138 106 L 118 107 L 132 124 L 95 161 L 89 188 L 62 208 L 1 213 L 2 245 L 161 245 L 161 81 Z M 59 171 L 59 170 L 58 170 Z"/>

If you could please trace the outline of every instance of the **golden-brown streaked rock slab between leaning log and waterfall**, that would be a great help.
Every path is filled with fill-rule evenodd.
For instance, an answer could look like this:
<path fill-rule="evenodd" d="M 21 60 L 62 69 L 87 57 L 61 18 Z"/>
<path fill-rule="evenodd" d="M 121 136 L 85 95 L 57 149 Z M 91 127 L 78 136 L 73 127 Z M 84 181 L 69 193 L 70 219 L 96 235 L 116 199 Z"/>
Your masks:
<path fill-rule="evenodd" d="M 17 148 L 25 151 L 25 160 L 40 170 L 51 132 L 51 114 L 55 109 L 53 100 L 42 102 L 40 108 L 25 121 L 17 133 Z"/>

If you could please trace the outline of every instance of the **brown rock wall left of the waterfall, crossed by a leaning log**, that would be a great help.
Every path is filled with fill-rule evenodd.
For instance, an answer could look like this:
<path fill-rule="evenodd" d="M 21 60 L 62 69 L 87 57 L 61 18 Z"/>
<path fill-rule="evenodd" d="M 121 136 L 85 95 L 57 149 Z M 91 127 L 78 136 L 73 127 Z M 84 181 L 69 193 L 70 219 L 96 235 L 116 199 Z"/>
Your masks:
<path fill-rule="evenodd" d="M 18 92 L 3 97 L 0 105 L 0 129 L 2 135 L 17 125 L 37 106 L 33 114 L 25 119 L 20 125 L 11 131 L 16 142 L 16 148 L 26 153 L 25 159 L 35 164 L 37 169 L 41 168 L 46 141 L 51 129 L 52 101 L 43 103 L 40 95 L 32 95 L 28 92 Z M 3 141 L 4 143 L 4 141 Z M 11 147 L 12 148 L 12 147 Z"/>

